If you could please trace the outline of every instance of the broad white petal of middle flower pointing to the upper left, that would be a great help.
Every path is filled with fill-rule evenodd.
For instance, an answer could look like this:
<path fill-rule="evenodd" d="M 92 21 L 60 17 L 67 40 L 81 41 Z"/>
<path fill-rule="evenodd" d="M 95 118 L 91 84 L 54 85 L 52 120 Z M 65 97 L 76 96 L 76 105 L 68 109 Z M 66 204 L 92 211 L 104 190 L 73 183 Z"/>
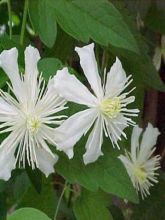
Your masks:
<path fill-rule="evenodd" d="M 59 95 L 68 101 L 90 107 L 97 103 L 96 97 L 74 75 L 69 74 L 67 68 L 57 71 L 54 86 Z"/>

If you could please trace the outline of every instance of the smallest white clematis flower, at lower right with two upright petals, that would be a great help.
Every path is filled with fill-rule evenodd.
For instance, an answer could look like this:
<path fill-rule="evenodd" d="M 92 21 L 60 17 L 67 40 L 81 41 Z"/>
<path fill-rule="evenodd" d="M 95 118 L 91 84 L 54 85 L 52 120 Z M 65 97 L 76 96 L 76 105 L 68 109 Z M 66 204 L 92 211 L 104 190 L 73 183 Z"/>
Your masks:
<path fill-rule="evenodd" d="M 157 128 L 149 123 L 146 128 L 141 144 L 139 138 L 142 133 L 142 128 L 138 126 L 133 128 L 131 137 L 131 152 L 120 155 L 119 159 L 124 164 L 133 186 L 140 191 L 142 198 L 149 193 L 149 187 L 153 183 L 157 183 L 157 173 L 155 171 L 159 168 L 160 156 L 153 156 L 155 151 L 154 145 L 156 144 L 157 137 L 160 134 Z"/>

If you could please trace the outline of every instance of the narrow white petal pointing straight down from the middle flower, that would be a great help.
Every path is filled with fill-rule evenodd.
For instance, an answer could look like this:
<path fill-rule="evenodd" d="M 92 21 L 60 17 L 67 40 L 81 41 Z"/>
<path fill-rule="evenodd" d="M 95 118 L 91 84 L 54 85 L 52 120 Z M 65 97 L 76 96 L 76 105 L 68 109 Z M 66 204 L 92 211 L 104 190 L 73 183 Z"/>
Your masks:
<path fill-rule="evenodd" d="M 95 122 L 94 128 L 91 131 L 88 141 L 85 145 L 86 152 L 83 155 L 84 163 L 92 163 L 98 159 L 101 152 L 101 146 L 103 143 L 103 124 L 102 118 L 99 117 Z"/>

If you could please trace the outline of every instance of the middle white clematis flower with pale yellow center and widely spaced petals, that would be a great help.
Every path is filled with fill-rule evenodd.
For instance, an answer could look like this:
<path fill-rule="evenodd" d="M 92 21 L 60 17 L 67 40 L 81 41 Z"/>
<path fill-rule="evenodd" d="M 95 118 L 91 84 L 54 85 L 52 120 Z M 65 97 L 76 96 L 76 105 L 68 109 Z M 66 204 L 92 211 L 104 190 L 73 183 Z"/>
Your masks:
<path fill-rule="evenodd" d="M 118 140 L 121 140 L 121 135 L 126 138 L 124 128 L 134 125 L 130 116 L 137 116 L 139 111 L 127 108 L 127 105 L 135 100 L 134 96 L 128 96 L 132 90 L 124 92 L 132 79 L 131 76 L 126 76 L 118 58 L 102 85 L 94 55 L 94 44 L 76 47 L 75 51 L 80 57 L 81 67 L 93 93 L 74 75 L 69 74 L 67 68 L 57 71 L 54 77 L 57 92 L 67 101 L 87 107 L 86 110 L 72 115 L 56 129 L 57 148 L 72 158 L 73 146 L 92 127 L 83 156 L 84 163 L 87 164 L 102 155 L 103 131 L 113 146 L 117 145 L 119 148 Z"/>

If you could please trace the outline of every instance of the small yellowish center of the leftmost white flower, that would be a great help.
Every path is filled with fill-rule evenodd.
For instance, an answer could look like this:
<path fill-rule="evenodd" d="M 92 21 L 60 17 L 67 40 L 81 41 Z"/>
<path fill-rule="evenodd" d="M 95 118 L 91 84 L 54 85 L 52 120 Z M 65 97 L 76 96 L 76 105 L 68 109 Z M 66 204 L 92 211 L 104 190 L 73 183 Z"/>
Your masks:
<path fill-rule="evenodd" d="M 41 125 L 41 122 L 39 121 L 39 119 L 37 117 L 33 117 L 33 116 L 27 117 L 27 129 L 31 133 L 33 133 L 33 134 L 37 133 L 40 125 Z"/>

